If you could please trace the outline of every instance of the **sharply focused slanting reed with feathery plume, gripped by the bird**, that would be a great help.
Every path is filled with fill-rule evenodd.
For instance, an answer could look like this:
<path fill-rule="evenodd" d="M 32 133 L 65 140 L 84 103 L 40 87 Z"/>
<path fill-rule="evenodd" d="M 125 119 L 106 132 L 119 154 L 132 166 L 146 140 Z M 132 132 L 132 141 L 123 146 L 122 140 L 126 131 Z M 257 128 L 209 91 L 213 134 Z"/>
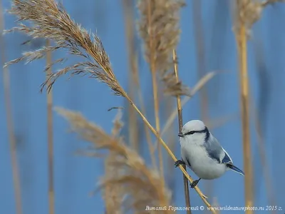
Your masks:
<path fill-rule="evenodd" d="M 68 66 L 56 73 L 53 73 L 51 76 L 49 76 L 48 80 L 42 84 L 41 91 L 45 86 L 48 91 L 51 90 L 51 87 L 53 86 L 53 83 L 55 83 L 56 79 L 66 73 L 71 73 L 71 76 L 76 74 L 89 74 L 91 78 L 97 78 L 98 81 L 109 86 L 116 96 L 123 96 L 130 102 L 131 106 L 135 108 L 135 111 L 137 111 L 142 118 L 142 121 L 147 125 L 148 128 L 150 128 L 150 131 L 155 134 L 155 137 L 159 139 L 159 142 L 162 143 L 162 146 L 172 157 L 173 161 L 177 161 L 177 158 L 172 151 L 170 151 L 165 141 L 162 140 L 159 133 L 157 133 L 155 128 L 150 125 L 147 118 L 145 118 L 140 109 L 120 86 L 120 83 L 118 83 L 118 80 L 115 78 L 115 74 L 110 66 L 108 55 L 105 52 L 103 44 L 98 36 L 88 34 L 86 29 L 83 29 L 80 25 L 72 21 L 65 9 L 56 4 L 56 1 L 14 0 L 13 3 L 14 4 L 10 10 L 10 13 L 18 16 L 18 22 L 20 21 L 20 23 L 17 27 L 14 27 L 14 29 L 9 31 L 24 32 L 33 39 L 38 37 L 51 39 L 56 42 L 56 46 L 43 47 L 42 49 L 36 51 L 25 52 L 23 54 L 24 56 L 9 61 L 4 67 L 24 59 L 26 59 L 28 63 L 38 58 L 43 58 L 43 53 L 46 51 L 54 51 L 56 49 L 63 49 L 68 51 L 68 53 L 71 55 L 81 56 L 81 58 L 84 58 L 86 61 L 76 63 L 73 66 Z M 24 20 L 30 21 L 31 25 L 26 26 L 21 23 L 21 21 Z M 91 39 L 91 36 L 93 39 Z M 53 63 L 63 62 L 63 60 L 63 58 L 60 58 Z M 179 168 L 182 170 L 187 179 L 192 182 L 192 178 L 190 178 L 184 168 L 182 168 L 182 166 Z M 211 207 L 206 200 L 207 197 L 203 195 L 197 186 L 195 187 L 195 190 L 199 194 L 200 198 L 202 198 L 204 203 L 208 207 Z M 212 212 L 214 213 L 214 210 L 212 210 Z"/>

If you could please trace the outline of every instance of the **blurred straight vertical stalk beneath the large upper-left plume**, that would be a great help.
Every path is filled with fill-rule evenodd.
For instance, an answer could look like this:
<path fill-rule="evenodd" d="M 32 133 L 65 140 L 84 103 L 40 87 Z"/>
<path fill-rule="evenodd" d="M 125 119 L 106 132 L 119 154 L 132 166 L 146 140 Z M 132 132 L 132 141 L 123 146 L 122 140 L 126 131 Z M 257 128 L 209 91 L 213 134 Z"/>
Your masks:
<path fill-rule="evenodd" d="M 46 46 L 50 41 L 46 40 Z M 51 51 L 46 52 L 46 65 L 51 64 Z M 51 68 L 46 71 L 46 76 L 51 74 Z M 48 120 L 48 208 L 49 214 L 54 214 L 54 189 L 53 189 L 53 93 L 47 94 L 47 120 Z"/>

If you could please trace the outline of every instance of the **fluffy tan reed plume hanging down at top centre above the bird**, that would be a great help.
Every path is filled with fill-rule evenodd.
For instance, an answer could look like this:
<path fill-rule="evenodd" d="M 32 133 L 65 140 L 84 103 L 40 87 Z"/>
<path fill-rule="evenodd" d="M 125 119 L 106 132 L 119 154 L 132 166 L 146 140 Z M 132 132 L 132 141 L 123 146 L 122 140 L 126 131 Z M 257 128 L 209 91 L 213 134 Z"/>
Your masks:
<path fill-rule="evenodd" d="M 172 96 L 188 95 L 189 90 L 176 81 L 172 68 L 172 50 L 180 39 L 180 9 L 183 0 L 138 1 L 140 21 L 138 31 L 144 41 L 145 58 L 151 69 L 158 71 L 165 83 L 165 93 Z M 152 72 L 155 72 L 152 71 Z"/>

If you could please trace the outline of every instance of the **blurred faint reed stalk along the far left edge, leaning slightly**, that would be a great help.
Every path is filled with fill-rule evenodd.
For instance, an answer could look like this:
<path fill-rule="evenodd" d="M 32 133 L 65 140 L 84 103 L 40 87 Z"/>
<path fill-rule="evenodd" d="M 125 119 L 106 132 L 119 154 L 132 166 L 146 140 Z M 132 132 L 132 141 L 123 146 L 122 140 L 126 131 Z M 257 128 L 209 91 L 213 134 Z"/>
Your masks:
<path fill-rule="evenodd" d="M 2 9 L 2 1 L 0 1 L 0 46 L 1 46 L 1 63 L 4 65 L 6 62 L 5 57 L 5 41 L 2 36 L 4 30 L 4 14 Z M 15 203 L 16 203 L 16 214 L 23 213 L 22 200 L 21 200 L 21 182 L 19 175 L 19 165 L 17 161 L 16 152 L 16 136 L 14 133 L 13 113 L 11 108 L 11 92 L 10 92 L 10 75 L 8 68 L 3 69 L 3 86 L 4 86 L 4 103 L 6 108 L 6 123 L 9 133 L 9 144 L 10 144 L 10 156 L 12 165 L 12 177 L 14 185 Z"/>

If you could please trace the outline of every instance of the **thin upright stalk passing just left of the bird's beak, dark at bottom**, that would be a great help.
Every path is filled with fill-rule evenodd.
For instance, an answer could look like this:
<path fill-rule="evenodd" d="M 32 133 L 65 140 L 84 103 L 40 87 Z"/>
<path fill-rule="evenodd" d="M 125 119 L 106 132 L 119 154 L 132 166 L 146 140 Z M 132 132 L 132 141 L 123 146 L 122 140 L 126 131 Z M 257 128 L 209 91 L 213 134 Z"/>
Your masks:
<path fill-rule="evenodd" d="M 176 77 L 176 81 L 179 82 L 179 78 L 178 78 L 178 66 L 177 66 L 177 55 L 176 55 L 176 51 L 173 50 L 172 52 L 172 56 L 173 56 L 173 62 L 174 62 L 174 73 L 175 73 L 175 77 Z M 182 131 L 182 126 L 183 126 L 183 121 L 182 121 L 182 105 L 181 105 L 181 98 L 180 96 L 176 96 L 176 101 L 177 101 L 177 113 L 178 113 L 178 128 L 179 128 L 179 132 Z M 186 165 L 182 166 L 185 171 L 186 170 Z M 184 183 L 184 195 L 185 195 L 185 204 L 187 206 L 187 208 L 190 208 L 191 204 L 190 204 L 190 193 L 189 193 L 189 185 L 188 185 L 188 180 L 185 177 L 185 175 L 183 175 L 183 183 Z M 190 214 L 191 210 L 187 210 L 187 214 Z"/>

